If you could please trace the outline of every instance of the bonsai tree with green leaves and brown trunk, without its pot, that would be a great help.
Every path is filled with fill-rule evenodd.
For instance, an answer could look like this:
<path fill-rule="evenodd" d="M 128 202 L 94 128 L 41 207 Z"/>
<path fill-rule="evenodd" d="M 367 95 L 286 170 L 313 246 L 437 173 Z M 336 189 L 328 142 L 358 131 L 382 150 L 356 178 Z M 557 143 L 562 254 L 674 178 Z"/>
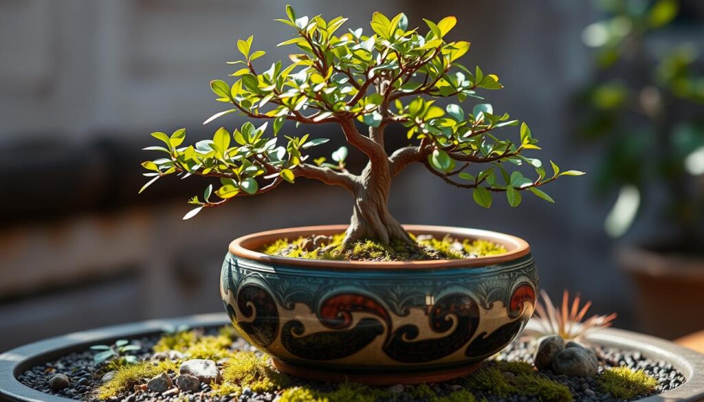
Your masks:
<path fill-rule="evenodd" d="M 228 108 L 215 113 L 204 124 L 230 113 L 241 113 L 263 120 L 256 126 L 244 123 L 239 130 L 220 127 L 213 139 L 182 146 L 186 131 L 171 135 L 152 133 L 164 146 L 148 150 L 162 151 L 166 158 L 142 165 L 153 177 L 142 188 L 166 175 L 199 175 L 220 179 L 218 188 L 208 185 L 203 199 L 189 202 L 196 208 L 184 216 L 191 218 L 203 208 L 220 206 L 239 196 L 263 194 L 284 182 L 299 177 L 315 179 L 343 187 L 353 195 L 354 207 L 343 244 L 363 238 L 377 239 L 383 244 L 397 239 L 412 243 L 406 230 L 389 213 L 389 187 L 394 176 L 411 163 L 422 163 L 433 175 L 448 184 L 472 190 L 474 201 L 489 208 L 492 194 L 503 193 L 510 206 L 521 202 L 521 191 L 531 191 L 541 199 L 553 202 L 539 187 L 562 175 L 582 175 L 576 170 L 560 172 L 551 162 L 552 174 L 543 163 L 523 155 L 523 151 L 539 149 L 538 142 L 525 123 L 515 140 L 501 139 L 498 129 L 518 125 L 508 113 L 498 113 L 488 103 L 477 103 L 466 113 L 451 103 L 446 108 L 436 99 L 448 98 L 463 102 L 467 98 L 482 99 L 477 90 L 501 89 L 494 74 L 485 74 L 458 63 L 470 49 L 470 42 L 448 42 L 446 36 L 455 23 L 447 17 L 434 23 L 425 20 L 428 31 L 421 34 L 409 28 L 406 15 L 387 18 L 372 15 L 372 32 L 363 28 L 341 30 L 346 18 L 325 20 L 298 17 L 291 6 L 287 18 L 294 37 L 279 46 L 294 46 L 288 65 L 277 61 L 260 70 L 255 61 L 265 54 L 252 49 L 253 37 L 237 42 L 242 60 L 228 62 L 240 68 L 229 84 L 223 80 L 210 82 L 218 101 Z M 337 32 L 344 32 L 336 35 Z M 328 139 L 311 139 L 285 135 L 279 145 L 277 134 L 284 122 L 298 125 L 333 127 L 350 146 L 365 154 L 369 162 L 358 174 L 346 169 L 346 147 L 330 156 L 311 158 L 308 149 Z M 357 122 L 366 126 L 358 128 Z M 272 126 L 272 137 L 265 132 Z M 389 125 L 407 129 L 408 146 L 387 153 L 384 135 Z M 527 165 L 535 170 L 534 178 L 520 170 L 509 171 L 510 165 Z M 477 167 L 474 172 L 469 168 Z M 141 191 L 140 191 L 141 192 Z M 213 194 L 214 193 L 214 194 Z M 214 197 L 213 197 L 214 195 Z"/>

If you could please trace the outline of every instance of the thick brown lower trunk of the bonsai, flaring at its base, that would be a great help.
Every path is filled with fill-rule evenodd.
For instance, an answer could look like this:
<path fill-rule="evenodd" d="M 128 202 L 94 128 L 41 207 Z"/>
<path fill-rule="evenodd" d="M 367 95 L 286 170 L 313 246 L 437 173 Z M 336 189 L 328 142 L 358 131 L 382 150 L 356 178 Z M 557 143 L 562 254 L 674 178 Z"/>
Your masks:
<path fill-rule="evenodd" d="M 388 163 L 368 163 L 354 191 L 355 205 L 344 244 L 364 238 L 377 239 L 383 244 L 389 244 L 393 239 L 414 243 L 408 232 L 389 213 L 390 188 Z"/>

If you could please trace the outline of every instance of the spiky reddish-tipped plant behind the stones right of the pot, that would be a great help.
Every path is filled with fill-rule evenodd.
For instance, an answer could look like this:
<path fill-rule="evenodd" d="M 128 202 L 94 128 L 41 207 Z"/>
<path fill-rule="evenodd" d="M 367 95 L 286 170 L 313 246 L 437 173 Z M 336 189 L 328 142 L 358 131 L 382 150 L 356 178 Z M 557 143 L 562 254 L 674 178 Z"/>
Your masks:
<path fill-rule="evenodd" d="M 543 301 L 536 303 L 534 320 L 539 322 L 541 335 L 559 335 L 568 341 L 578 341 L 593 330 L 610 327 L 616 318 L 616 313 L 611 313 L 592 315 L 584 320 L 587 310 L 591 307 L 591 301 L 580 306 L 582 299 L 577 294 L 570 306 L 570 292 L 567 290 L 562 293 L 562 306 L 559 309 L 555 308 L 546 291 L 541 290 L 540 296 Z"/>

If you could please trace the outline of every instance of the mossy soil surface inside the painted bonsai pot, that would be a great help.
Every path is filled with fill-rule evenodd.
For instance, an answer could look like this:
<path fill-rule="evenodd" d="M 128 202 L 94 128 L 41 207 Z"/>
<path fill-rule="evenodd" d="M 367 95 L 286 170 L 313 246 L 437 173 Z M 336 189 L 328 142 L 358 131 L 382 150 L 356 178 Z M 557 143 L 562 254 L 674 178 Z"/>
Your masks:
<path fill-rule="evenodd" d="M 436 239 L 422 235 L 413 237 L 416 243 L 406 244 L 392 240 L 382 244 L 374 239 L 356 241 L 350 246 L 342 246 L 344 234 L 333 236 L 298 237 L 289 241 L 279 239 L 263 246 L 260 251 L 270 256 L 291 258 L 308 258 L 314 260 L 348 260 L 348 261 L 410 261 L 473 258 L 505 253 L 506 249 L 488 240 L 455 240 L 446 236 Z"/>

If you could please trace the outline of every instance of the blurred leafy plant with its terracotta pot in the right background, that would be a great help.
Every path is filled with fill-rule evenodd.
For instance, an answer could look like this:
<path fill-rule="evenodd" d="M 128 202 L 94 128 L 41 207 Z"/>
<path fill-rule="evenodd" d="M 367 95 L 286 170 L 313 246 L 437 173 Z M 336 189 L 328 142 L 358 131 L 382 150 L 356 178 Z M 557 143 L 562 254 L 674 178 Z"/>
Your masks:
<path fill-rule="evenodd" d="M 704 292 L 704 77 L 691 44 L 677 40 L 683 32 L 665 30 L 678 1 L 602 4 L 607 15 L 583 34 L 598 49 L 598 74 L 582 134 L 605 144 L 599 194 L 618 190 L 608 233 L 627 232 L 643 207 L 660 215 L 650 241 L 618 259 L 636 283 L 639 322 L 672 339 L 704 328 L 694 319 Z"/>

